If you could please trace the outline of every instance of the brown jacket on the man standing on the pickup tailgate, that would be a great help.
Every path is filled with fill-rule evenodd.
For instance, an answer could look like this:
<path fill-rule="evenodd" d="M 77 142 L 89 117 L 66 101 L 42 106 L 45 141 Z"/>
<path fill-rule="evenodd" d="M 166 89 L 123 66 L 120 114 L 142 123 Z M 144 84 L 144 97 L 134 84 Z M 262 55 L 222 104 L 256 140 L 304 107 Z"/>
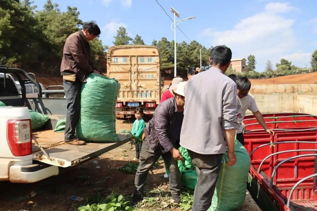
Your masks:
<path fill-rule="evenodd" d="M 86 75 L 94 72 L 89 64 L 89 52 L 90 45 L 81 31 L 69 35 L 63 49 L 61 75 L 76 73 L 81 82 L 86 82 Z"/>

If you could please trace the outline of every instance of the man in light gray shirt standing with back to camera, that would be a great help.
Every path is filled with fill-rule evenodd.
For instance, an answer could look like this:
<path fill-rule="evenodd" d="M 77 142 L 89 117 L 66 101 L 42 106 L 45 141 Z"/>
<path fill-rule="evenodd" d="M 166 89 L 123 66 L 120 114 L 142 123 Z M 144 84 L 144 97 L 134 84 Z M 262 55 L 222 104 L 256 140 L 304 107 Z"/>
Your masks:
<path fill-rule="evenodd" d="M 192 77 L 186 85 L 180 146 L 187 149 L 198 174 L 192 211 L 206 211 L 211 205 L 222 155 L 226 152 L 225 140 L 227 164 L 236 163 L 236 83 L 224 75 L 231 56 L 226 46 L 212 48 L 209 70 Z"/>

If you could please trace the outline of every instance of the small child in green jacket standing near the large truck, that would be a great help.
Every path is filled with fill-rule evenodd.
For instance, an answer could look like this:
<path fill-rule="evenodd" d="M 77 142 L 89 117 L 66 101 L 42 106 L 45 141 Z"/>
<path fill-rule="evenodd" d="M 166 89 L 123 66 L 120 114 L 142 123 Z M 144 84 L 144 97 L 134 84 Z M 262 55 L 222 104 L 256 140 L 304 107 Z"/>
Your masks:
<path fill-rule="evenodd" d="M 135 109 L 134 116 L 136 120 L 133 122 L 132 126 L 132 135 L 139 138 L 139 144 L 135 144 L 135 157 L 130 160 L 133 163 L 139 163 L 140 160 L 140 152 L 142 149 L 142 136 L 144 132 L 144 128 L 146 128 L 145 121 L 142 119 L 144 113 L 144 109 L 142 107 L 138 107 Z"/>

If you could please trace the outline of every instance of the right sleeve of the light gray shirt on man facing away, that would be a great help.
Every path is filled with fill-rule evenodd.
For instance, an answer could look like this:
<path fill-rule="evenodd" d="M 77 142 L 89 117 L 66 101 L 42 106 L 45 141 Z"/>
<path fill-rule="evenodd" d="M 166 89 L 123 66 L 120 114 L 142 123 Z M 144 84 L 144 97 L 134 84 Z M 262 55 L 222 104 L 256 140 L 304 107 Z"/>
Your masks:
<path fill-rule="evenodd" d="M 221 127 L 224 130 L 236 129 L 238 127 L 238 121 L 236 116 L 237 110 L 237 86 L 232 84 L 225 91 L 222 100 L 222 117 Z"/>

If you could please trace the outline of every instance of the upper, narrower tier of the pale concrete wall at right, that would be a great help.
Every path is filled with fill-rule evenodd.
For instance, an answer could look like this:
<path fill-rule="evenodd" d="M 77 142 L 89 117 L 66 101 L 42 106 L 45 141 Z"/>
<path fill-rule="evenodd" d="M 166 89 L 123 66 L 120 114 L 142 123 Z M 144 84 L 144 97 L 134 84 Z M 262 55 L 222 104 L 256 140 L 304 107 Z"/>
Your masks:
<path fill-rule="evenodd" d="M 317 84 L 254 84 L 251 85 L 251 94 L 303 94 L 317 92 Z"/>

